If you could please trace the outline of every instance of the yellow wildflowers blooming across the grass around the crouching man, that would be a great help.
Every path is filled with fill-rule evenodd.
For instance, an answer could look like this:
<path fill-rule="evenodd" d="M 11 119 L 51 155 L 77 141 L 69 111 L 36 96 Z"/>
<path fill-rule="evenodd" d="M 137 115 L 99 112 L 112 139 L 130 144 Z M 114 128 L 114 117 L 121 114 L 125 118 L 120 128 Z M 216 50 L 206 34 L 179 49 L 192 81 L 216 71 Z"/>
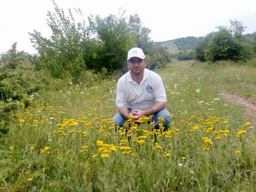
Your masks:
<path fill-rule="evenodd" d="M 106 105 L 101 104 L 99 100 L 88 100 L 87 102 L 93 106 L 100 105 L 100 107 L 104 108 L 114 108 L 106 107 Z M 65 115 L 69 114 L 68 110 L 64 107 L 60 107 L 61 109 L 57 112 L 54 108 L 48 105 L 49 104 L 42 102 L 38 105 L 38 108 L 28 107 L 25 109 L 25 112 L 17 114 L 19 125 L 23 128 L 41 128 L 45 127 L 45 124 L 47 123 L 51 127 L 51 133 L 54 133 L 54 136 L 51 136 L 52 140 L 67 140 L 67 138 L 70 137 L 78 137 L 81 142 L 84 142 L 93 137 L 96 138 L 96 140 L 97 138 L 101 138 L 101 140 L 106 139 L 106 141 L 113 142 L 113 144 L 106 144 L 101 140 L 97 140 L 96 145 L 99 148 L 96 153 L 93 153 L 94 155 L 92 155 L 92 157 L 94 158 L 110 157 L 111 152 L 113 151 L 122 152 L 124 155 L 135 155 L 134 151 L 148 146 L 158 149 L 155 150 L 157 151 L 155 153 L 161 153 L 163 157 L 170 157 L 170 151 L 164 152 L 163 149 L 165 149 L 165 145 L 163 145 L 163 143 L 168 143 L 175 138 L 182 138 L 185 134 L 200 134 L 200 138 L 204 138 L 203 140 L 198 140 L 198 145 L 203 145 L 203 150 L 208 151 L 211 149 L 213 141 L 218 142 L 218 140 L 224 140 L 225 137 L 231 137 L 232 135 L 232 130 L 229 130 L 228 128 L 230 127 L 228 125 L 229 120 L 222 120 L 222 118 L 215 116 L 196 118 L 195 115 L 192 115 L 188 121 L 173 121 L 170 123 L 170 127 L 167 131 L 163 131 L 164 118 L 159 118 L 160 123 L 159 129 L 157 130 L 154 128 L 155 121 L 152 121 L 152 115 L 149 117 L 141 117 L 138 123 L 134 123 L 132 118 L 130 118 L 123 127 L 119 127 L 119 130 L 114 132 L 113 120 L 106 118 L 107 115 L 98 115 L 97 112 L 99 111 L 97 111 L 96 108 L 91 108 L 86 112 L 80 111 L 77 118 L 65 118 Z M 113 114 L 109 115 L 111 117 L 113 116 Z M 172 115 L 172 118 L 174 118 L 174 115 Z M 247 132 L 245 131 L 245 128 L 249 125 L 251 125 L 250 122 L 246 122 L 243 125 L 244 130 L 238 131 L 238 138 L 241 138 L 242 135 Z M 51 135 L 51 133 L 48 134 Z M 201 136 L 201 134 L 204 135 Z M 191 141 L 192 138 L 193 137 L 191 137 Z M 95 140 L 93 142 L 95 143 Z M 154 144 L 147 145 L 150 142 Z M 47 145 L 47 143 L 44 145 Z M 79 146 L 81 146 L 81 144 Z M 136 148 L 134 148 L 134 146 L 136 146 Z M 50 147 L 41 148 L 40 153 L 49 153 L 49 148 Z M 90 143 L 90 147 L 88 145 L 82 145 L 78 151 L 81 151 L 81 153 L 88 151 L 88 153 L 90 153 L 94 148 L 95 147 Z M 14 147 L 9 147 L 9 150 L 13 149 Z M 119 152 L 117 152 L 117 154 Z M 181 160 L 186 160 L 186 157 L 182 157 Z"/>

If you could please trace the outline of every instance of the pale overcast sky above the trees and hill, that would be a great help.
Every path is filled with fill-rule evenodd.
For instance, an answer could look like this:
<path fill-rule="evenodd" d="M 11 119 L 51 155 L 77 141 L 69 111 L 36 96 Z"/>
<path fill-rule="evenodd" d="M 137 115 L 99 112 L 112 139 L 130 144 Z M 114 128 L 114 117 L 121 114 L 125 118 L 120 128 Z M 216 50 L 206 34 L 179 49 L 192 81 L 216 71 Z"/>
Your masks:
<path fill-rule="evenodd" d="M 244 34 L 256 31 L 255 0 L 55 0 L 68 13 L 68 8 L 80 8 L 85 18 L 126 10 L 124 16 L 138 14 L 144 27 L 151 29 L 153 41 L 168 41 L 182 37 L 204 37 L 217 26 L 228 26 L 229 19 L 241 21 Z M 0 0 L 0 53 L 11 49 L 17 42 L 18 51 L 37 52 L 30 42 L 28 32 L 41 32 L 50 37 L 47 12 L 54 12 L 52 0 Z"/>

